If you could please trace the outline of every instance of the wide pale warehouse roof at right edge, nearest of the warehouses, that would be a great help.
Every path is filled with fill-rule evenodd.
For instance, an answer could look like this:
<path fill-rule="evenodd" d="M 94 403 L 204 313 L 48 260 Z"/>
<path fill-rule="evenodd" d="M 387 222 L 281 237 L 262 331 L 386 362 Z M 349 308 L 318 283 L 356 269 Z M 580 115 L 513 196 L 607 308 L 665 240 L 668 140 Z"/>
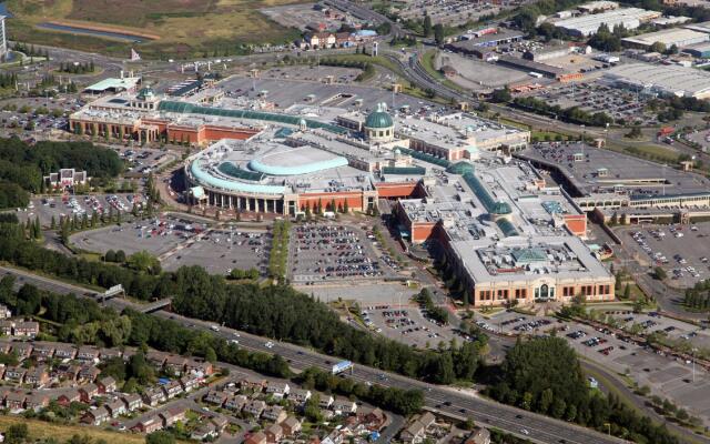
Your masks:
<path fill-rule="evenodd" d="M 627 63 L 610 69 L 605 79 L 660 94 L 710 98 L 710 72 L 677 65 Z"/>

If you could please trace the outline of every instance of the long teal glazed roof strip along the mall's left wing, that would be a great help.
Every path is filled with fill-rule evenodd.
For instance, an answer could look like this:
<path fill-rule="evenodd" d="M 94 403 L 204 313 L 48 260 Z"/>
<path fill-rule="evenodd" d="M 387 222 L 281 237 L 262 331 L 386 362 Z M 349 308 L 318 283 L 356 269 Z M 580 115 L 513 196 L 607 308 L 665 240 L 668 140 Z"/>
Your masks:
<path fill-rule="evenodd" d="M 171 100 L 163 100 L 158 105 L 159 111 L 176 112 L 181 114 L 203 114 L 203 115 L 219 115 L 235 119 L 253 119 L 263 120 L 266 122 L 285 123 L 297 127 L 301 120 L 305 120 L 306 125 L 312 129 L 322 129 L 336 134 L 346 133 L 347 130 L 334 124 L 318 122 L 317 120 L 302 119 L 295 115 L 280 114 L 276 112 L 263 112 L 251 110 L 230 110 L 224 108 L 210 108 L 201 107 L 194 103 L 187 102 L 174 102 Z"/>

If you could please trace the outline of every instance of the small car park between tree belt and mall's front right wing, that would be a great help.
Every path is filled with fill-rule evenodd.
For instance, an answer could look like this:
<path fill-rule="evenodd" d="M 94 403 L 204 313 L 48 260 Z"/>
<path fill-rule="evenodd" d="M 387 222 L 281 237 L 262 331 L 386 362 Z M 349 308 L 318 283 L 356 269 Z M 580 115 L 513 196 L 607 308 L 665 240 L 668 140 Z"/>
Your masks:
<path fill-rule="evenodd" d="M 439 325 L 406 303 L 366 306 L 361 315 L 375 332 L 419 349 L 435 349 L 439 342 L 448 344 L 455 335 L 450 325 Z"/>

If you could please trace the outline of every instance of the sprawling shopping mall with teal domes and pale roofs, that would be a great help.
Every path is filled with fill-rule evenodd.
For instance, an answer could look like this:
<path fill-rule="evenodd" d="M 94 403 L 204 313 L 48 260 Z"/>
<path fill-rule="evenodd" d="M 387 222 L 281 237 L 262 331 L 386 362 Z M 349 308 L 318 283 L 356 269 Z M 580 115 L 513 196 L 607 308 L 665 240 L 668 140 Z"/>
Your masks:
<path fill-rule="evenodd" d="M 400 236 L 430 246 L 477 306 L 613 299 L 613 276 L 585 243 L 586 213 L 517 158 L 528 131 L 465 112 L 367 105 L 275 111 L 143 88 L 88 103 L 70 128 L 203 147 L 184 162 L 194 205 L 298 216 L 390 200 Z"/>

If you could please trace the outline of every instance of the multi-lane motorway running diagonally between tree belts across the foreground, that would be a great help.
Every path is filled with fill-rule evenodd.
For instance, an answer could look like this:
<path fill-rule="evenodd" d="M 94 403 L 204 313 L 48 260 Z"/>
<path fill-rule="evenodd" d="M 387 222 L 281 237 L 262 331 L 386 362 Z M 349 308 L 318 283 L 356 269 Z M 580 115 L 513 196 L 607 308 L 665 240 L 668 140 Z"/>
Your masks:
<path fill-rule="evenodd" d="M 0 278 L 6 274 L 18 276 L 17 284 L 31 283 L 44 290 L 57 293 L 74 293 L 83 295 L 94 294 L 77 285 L 67 284 L 61 281 L 38 276 L 32 273 L 0 266 Z M 115 310 L 133 306 L 130 301 L 122 299 L 109 300 L 106 305 Z M 159 311 L 154 313 L 161 317 L 173 319 L 174 321 L 190 327 L 212 332 L 225 339 L 236 339 L 235 331 L 220 327 L 219 332 L 213 332 L 213 324 L 182 317 L 170 312 Z M 310 366 L 331 370 L 336 360 L 312 350 L 300 347 L 293 344 L 273 341 L 274 346 L 267 349 L 267 339 L 239 332 L 240 345 L 246 350 L 254 350 L 264 353 L 276 353 L 286 359 L 295 371 L 301 371 Z M 476 394 L 468 394 L 457 389 L 437 386 L 409 377 L 383 372 L 377 369 L 355 365 L 352 379 L 362 382 L 376 382 L 383 386 L 398 389 L 418 389 L 425 394 L 425 405 L 432 410 L 439 411 L 453 417 L 473 417 L 485 426 L 494 426 L 511 434 L 529 438 L 537 443 L 570 443 L 570 444 L 612 444 L 625 441 L 607 436 L 601 433 L 584 428 L 564 421 L 554 420 L 547 416 L 534 414 L 513 406 L 498 404 L 485 400 Z M 527 432 L 527 434 L 525 432 Z"/>

